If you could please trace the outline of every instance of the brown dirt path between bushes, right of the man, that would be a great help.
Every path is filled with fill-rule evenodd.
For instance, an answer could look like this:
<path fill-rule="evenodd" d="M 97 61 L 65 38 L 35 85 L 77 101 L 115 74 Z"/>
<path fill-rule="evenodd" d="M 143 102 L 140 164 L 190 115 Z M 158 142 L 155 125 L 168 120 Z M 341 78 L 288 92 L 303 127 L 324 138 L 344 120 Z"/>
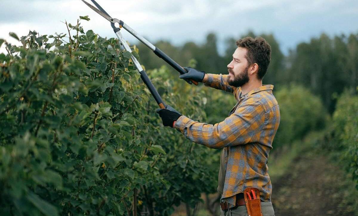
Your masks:
<path fill-rule="evenodd" d="M 275 215 L 355 215 L 358 193 L 349 176 L 328 157 L 304 151 L 273 182 Z"/>

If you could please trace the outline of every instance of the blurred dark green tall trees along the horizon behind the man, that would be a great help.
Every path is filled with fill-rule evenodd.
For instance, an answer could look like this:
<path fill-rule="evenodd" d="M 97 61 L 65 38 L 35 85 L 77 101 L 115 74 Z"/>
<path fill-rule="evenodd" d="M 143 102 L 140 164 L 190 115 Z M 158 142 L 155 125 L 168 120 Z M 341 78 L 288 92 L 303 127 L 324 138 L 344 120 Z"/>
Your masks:
<path fill-rule="evenodd" d="M 255 34 L 249 31 L 237 38 L 225 41 L 224 55 L 218 52 L 218 39 L 213 33 L 206 36 L 203 44 L 188 41 L 175 46 L 169 41 L 160 40 L 155 46 L 167 53 L 180 65 L 188 65 L 190 59 L 197 62 L 196 68 L 207 73 L 227 73 L 226 65 L 232 60 L 236 49 L 235 41 L 245 36 L 262 36 L 271 45 L 271 63 L 263 84 L 273 84 L 276 89 L 290 83 L 302 85 L 318 95 L 329 113 L 333 113 L 337 95 L 344 88 L 358 85 L 358 34 L 336 35 L 323 33 L 307 42 L 296 45 L 287 55 L 273 34 Z M 141 63 L 146 69 L 159 68 L 166 64 L 145 45 L 138 44 Z M 172 70 L 173 74 L 177 74 Z"/>

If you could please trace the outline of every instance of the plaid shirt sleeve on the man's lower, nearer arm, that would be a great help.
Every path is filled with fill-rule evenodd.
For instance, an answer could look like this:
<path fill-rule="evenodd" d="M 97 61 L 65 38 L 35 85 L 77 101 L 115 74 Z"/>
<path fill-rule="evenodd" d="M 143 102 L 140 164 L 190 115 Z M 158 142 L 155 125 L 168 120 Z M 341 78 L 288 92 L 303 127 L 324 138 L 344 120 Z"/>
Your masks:
<path fill-rule="evenodd" d="M 265 108 L 260 102 L 243 102 L 224 121 L 216 124 L 199 123 L 180 116 L 175 128 L 187 139 L 209 148 L 223 148 L 259 142 L 265 123 Z"/>

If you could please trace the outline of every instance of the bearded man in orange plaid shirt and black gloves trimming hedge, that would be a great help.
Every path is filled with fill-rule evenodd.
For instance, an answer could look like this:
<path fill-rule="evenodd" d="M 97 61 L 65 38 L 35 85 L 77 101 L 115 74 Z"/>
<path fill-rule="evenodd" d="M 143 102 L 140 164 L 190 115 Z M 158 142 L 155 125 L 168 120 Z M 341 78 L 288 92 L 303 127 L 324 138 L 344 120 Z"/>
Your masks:
<path fill-rule="evenodd" d="M 272 216 L 275 214 L 271 203 L 272 186 L 266 164 L 279 127 L 280 110 L 272 94 L 274 86 L 262 85 L 270 64 L 271 48 L 261 37 L 240 39 L 236 45 L 233 59 L 227 65 L 228 75 L 206 74 L 193 68 L 185 68 L 188 73 L 180 75 L 182 79 L 193 79 L 233 93 L 237 104 L 228 118 L 212 125 L 195 122 L 169 105 L 157 112 L 164 126 L 176 128 L 191 141 L 209 148 L 223 148 L 218 185 L 222 195 L 221 215 L 248 215 L 247 208 L 251 207 L 246 206 L 245 201 L 250 200 L 247 197 L 252 198 L 253 193 L 244 199 L 243 192 L 253 187 L 260 192 L 258 212 Z"/>

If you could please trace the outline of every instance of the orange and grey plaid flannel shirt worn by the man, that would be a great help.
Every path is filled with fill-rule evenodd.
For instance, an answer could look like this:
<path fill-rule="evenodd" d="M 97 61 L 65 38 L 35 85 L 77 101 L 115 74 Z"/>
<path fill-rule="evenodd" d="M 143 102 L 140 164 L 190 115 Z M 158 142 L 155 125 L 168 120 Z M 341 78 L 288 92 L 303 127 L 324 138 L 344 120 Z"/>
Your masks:
<path fill-rule="evenodd" d="M 241 88 L 228 85 L 227 79 L 228 75 L 208 74 L 204 85 L 234 94 L 237 104 L 229 117 L 212 125 L 181 116 L 175 128 L 195 143 L 224 148 L 226 176 L 221 202 L 234 206 L 235 195 L 247 187 L 258 188 L 261 200 L 271 201 L 267 158 L 280 123 L 274 86 L 262 85 L 241 95 Z"/>

